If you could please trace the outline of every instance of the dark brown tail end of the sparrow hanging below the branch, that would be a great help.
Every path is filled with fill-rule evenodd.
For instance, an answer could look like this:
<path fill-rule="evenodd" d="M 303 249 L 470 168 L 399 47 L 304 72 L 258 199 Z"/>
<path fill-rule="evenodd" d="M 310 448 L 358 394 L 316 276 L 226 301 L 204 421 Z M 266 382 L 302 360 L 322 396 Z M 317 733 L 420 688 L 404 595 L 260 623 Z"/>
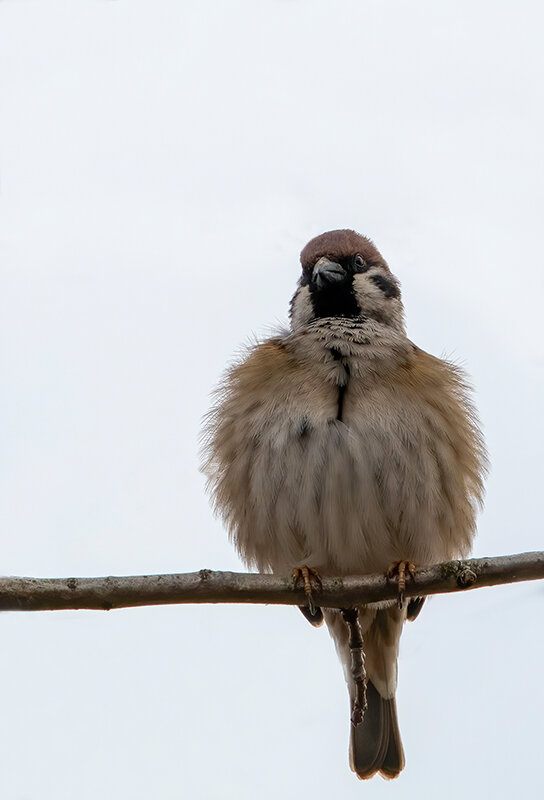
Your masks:
<path fill-rule="evenodd" d="M 377 772 L 384 778 L 396 778 L 404 767 L 404 750 L 395 698 L 386 700 L 369 681 L 367 703 L 363 721 L 351 728 L 351 768 L 361 780 Z"/>

